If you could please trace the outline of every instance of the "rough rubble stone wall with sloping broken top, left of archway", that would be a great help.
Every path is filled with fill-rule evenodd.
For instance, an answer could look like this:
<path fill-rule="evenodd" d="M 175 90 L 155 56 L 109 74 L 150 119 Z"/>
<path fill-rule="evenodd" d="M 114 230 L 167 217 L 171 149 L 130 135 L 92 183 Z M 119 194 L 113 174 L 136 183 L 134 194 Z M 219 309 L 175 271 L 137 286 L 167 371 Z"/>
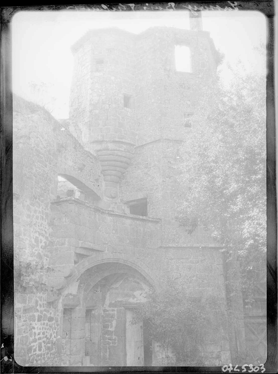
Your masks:
<path fill-rule="evenodd" d="M 99 170 L 95 156 L 46 110 L 13 97 L 15 286 L 21 287 L 15 292 L 15 358 L 22 366 L 60 362 L 62 309 L 47 300 L 46 288 L 53 256 L 50 203 L 57 196 L 58 174 L 74 175 L 74 183 L 83 181 L 80 186 L 96 198 Z"/>

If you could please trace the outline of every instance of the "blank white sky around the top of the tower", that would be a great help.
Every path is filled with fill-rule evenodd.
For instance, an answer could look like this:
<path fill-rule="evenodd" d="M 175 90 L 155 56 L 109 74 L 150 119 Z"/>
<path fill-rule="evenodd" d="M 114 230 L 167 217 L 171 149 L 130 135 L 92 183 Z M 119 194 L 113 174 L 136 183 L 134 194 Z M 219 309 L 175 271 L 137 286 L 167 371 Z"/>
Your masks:
<path fill-rule="evenodd" d="M 140 33 L 149 27 L 188 29 L 187 11 L 138 12 L 19 12 L 13 18 L 13 91 L 68 118 L 73 58 L 70 47 L 88 30 L 120 27 Z M 227 65 L 240 60 L 246 72 L 265 74 L 265 56 L 254 51 L 266 42 L 265 16 L 259 12 L 202 12 L 203 30 L 210 31 L 216 49 L 225 54 L 221 79 L 232 79 Z M 242 69 L 240 69 L 242 73 Z M 40 86 L 40 92 L 31 84 Z"/>

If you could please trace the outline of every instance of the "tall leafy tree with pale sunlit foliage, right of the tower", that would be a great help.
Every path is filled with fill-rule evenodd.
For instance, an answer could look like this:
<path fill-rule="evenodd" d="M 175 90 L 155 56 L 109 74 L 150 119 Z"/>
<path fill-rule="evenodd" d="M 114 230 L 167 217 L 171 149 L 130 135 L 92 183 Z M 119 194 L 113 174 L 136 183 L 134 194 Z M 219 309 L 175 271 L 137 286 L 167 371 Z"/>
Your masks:
<path fill-rule="evenodd" d="M 252 300 L 246 274 L 266 266 L 265 77 L 234 73 L 229 88 L 211 82 L 201 98 L 184 144 L 177 218 L 189 233 L 207 227 L 228 260 L 240 261 Z"/>

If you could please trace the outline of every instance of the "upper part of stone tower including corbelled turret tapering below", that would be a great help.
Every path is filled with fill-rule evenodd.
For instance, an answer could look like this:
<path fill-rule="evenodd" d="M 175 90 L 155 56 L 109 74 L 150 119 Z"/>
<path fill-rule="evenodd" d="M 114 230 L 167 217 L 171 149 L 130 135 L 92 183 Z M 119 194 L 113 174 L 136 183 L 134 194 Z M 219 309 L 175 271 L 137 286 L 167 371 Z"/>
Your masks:
<path fill-rule="evenodd" d="M 154 27 L 138 35 L 91 30 L 72 47 L 71 131 L 97 152 L 108 199 L 118 196 L 135 147 L 183 139 L 184 119 L 218 63 L 209 33 L 198 30 L 197 21 L 194 30 Z M 189 48 L 190 71 L 176 71 L 176 46 Z"/>

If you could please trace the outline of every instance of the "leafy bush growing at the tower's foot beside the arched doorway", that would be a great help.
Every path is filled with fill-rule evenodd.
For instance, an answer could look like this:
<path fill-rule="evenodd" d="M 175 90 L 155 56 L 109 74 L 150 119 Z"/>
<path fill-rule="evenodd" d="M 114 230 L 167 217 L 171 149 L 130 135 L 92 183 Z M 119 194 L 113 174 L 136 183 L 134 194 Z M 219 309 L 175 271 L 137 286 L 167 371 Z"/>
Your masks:
<path fill-rule="evenodd" d="M 194 296 L 168 280 L 163 291 L 152 290 L 134 309 L 132 323 L 143 321 L 163 355 L 161 365 L 202 366 L 207 359 L 204 346 L 223 338 L 226 319 L 215 296 Z"/>

